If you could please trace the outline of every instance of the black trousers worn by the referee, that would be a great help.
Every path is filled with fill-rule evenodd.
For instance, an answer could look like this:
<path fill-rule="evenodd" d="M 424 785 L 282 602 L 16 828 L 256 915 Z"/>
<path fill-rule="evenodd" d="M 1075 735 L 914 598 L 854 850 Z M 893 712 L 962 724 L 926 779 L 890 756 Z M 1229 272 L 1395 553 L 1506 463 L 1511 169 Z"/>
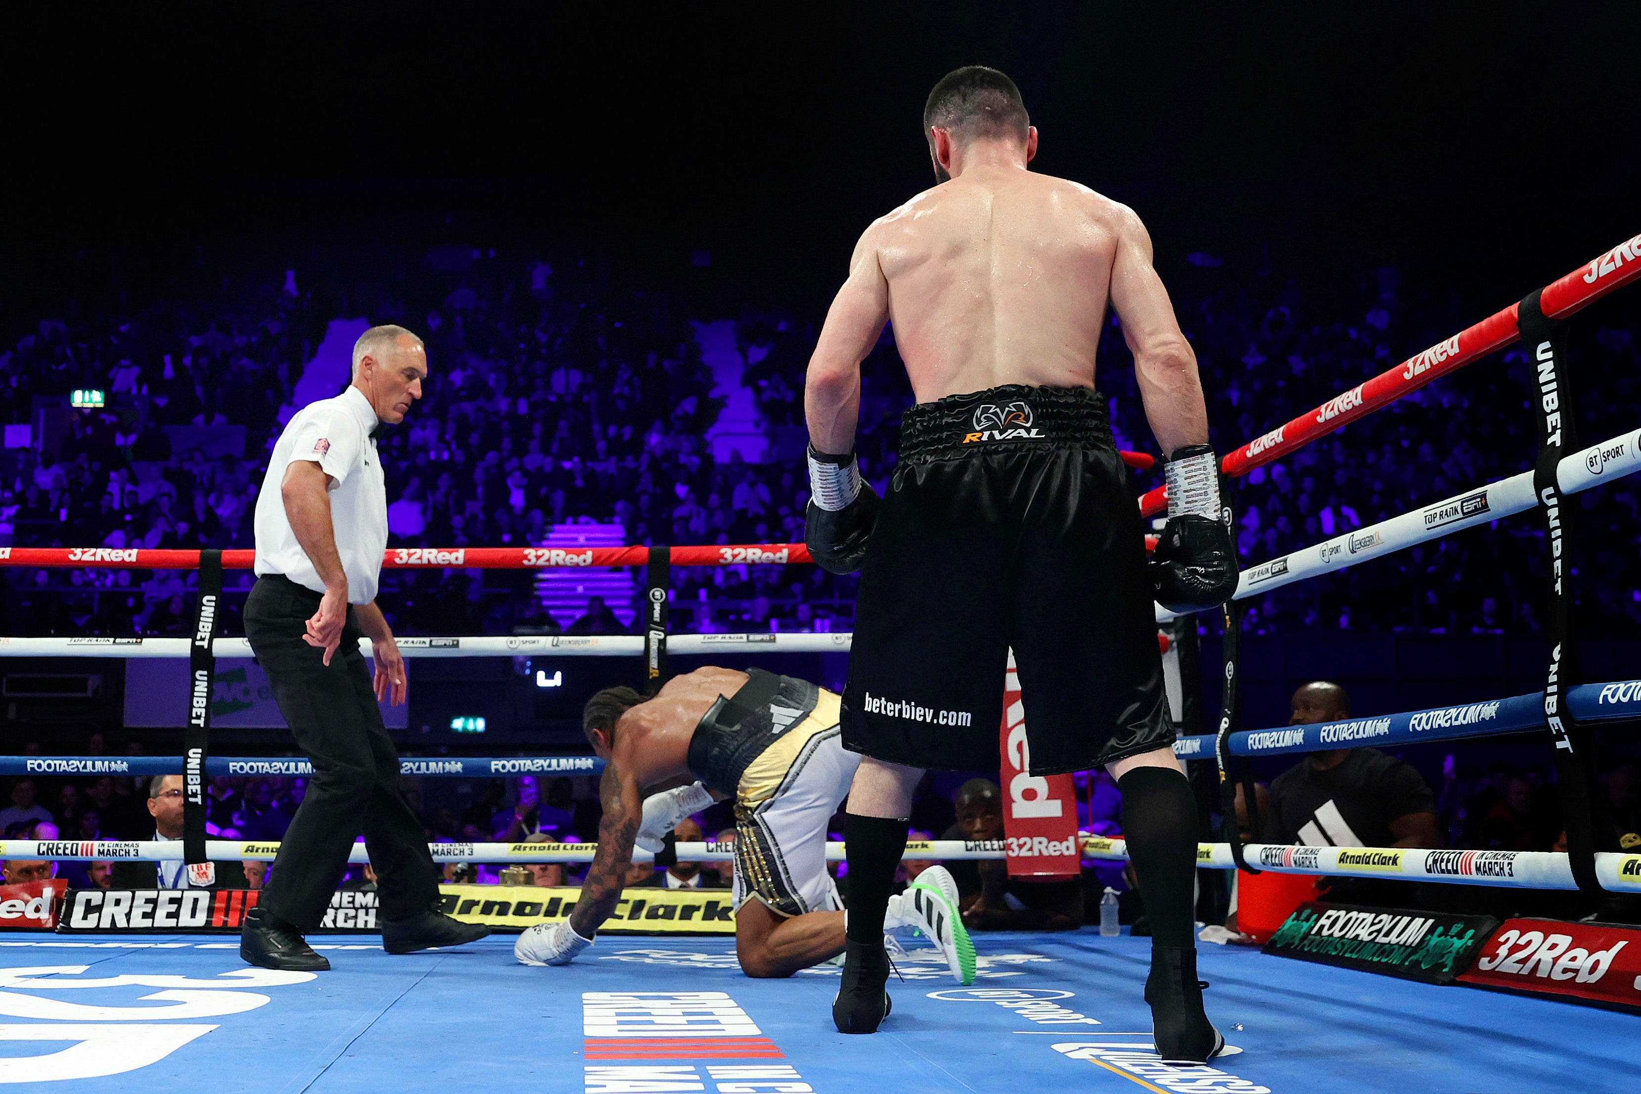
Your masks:
<path fill-rule="evenodd" d="M 399 754 L 359 653 L 359 620 L 350 607 L 327 668 L 325 651 L 302 640 L 318 602 L 320 594 L 279 576 L 258 577 L 245 602 L 246 638 L 297 748 L 313 764 L 261 900 L 304 933 L 318 930 L 361 832 L 384 919 L 409 919 L 438 902 L 438 869 L 399 789 Z"/>

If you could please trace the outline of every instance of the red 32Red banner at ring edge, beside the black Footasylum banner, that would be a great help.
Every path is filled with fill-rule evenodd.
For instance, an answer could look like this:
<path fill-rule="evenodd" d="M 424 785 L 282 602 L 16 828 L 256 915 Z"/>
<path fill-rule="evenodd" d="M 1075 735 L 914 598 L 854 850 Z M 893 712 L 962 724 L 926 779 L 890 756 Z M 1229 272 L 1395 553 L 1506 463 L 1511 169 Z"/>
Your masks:
<path fill-rule="evenodd" d="M 1551 919 L 1505 920 L 1459 982 L 1641 1012 L 1641 930 Z"/>

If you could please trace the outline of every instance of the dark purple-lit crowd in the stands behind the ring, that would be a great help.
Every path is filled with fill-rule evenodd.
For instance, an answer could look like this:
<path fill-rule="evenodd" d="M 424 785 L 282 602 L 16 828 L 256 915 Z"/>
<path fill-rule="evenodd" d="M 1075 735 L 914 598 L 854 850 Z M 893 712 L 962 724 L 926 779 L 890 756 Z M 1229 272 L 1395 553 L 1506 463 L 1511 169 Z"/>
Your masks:
<path fill-rule="evenodd" d="M 584 264 L 463 248 L 417 258 L 404 256 L 391 280 L 346 287 L 353 310 L 417 330 L 433 364 L 422 405 L 379 441 L 394 543 L 535 545 L 553 525 L 578 520 L 620 523 L 629 543 L 802 538 L 811 325 L 763 313 L 735 321 L 768 458 L 748 463 L 737 448 L 715 459 L 704 438 L 729 392 L 714 387 L 701 359 L 696 317 L 665 295 L 617 292 Z M 30 422 L 13 415 L 16 446 L 0 454 L 0 545 L 248 546 L 266 454 L 333 318 L 320 295 L 336 297 L 304 292 L 287 271 L 166 307 L 43 320 L 0 351 L 7 402 L 34 407 Z M 1355 307 L 1329 315 L 1275 279 L 1231 289 L 1209 277 L 1177 297 L 1221 451 L 1475 318 L 1408 299 L 1388 269 L 1365 280 Z M 1149 451 L 1118 335 L 1104 340 L 1099 384 L 1119 444 Z M 1600 328 L 1577 344 L 1584 443 L 1630 425 L 1621 415 L 1638 402 L 1638 349 L 1628 330 Z M 103 392 L 103 407 L 41 410 L 80 389 Z M 1255 469 L 1236 494 L 1244 564 L 1526 469 L 1526 389 L 1524 356 L 1506 351 Z M 907 402 L 886 335 L 865 366 L 862 400 L 862 467 L 880 485 Z M 18 430 L 25 425 L 33 431 Z M 241 426 L 238 451 L 238 433 L 213 426 Z M 1155 474 L 1140 474 L 1136 492 L 1150 485 Z M 1590 625 L 1641 622 L 1636 489 L 1620 481 L 1579 495 L 1577 507 L 1577 589 Z M 1495 522 L 1250 600 L 1246 622 L 1257 633 L 1536 631 L 1541 566 L 1536 522 Z M 166 635 L 187 622 L 189 579 L 174 572 L 3 572 L 8 633 Z M 853 610 L 852 579 L 817 569 L 696 569 L 678 581 L 678 602 L 693 615 L 683 628 L 843 630 Z M 407 633 L 505 631 L 525 617 L 556 627 L 530 605 L 527 582 L 502 572 L 397 574 L 384 605 Z M 609 623 L 630 625 L 632 605 L 610 607 Z"/>

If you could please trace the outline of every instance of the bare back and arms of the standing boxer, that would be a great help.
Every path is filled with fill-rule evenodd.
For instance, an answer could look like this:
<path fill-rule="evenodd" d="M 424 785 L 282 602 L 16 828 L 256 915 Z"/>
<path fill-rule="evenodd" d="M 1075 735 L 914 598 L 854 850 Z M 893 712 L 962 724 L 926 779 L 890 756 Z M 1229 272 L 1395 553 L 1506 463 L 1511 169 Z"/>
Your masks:
<path fill-rule="evenodd" d="M 852 446 L 858 364 L 886 321 L 917 402 L 932 402 L 1003 384 L 1093 387 L 1108 302 L 1162 449 L 1206 440 L 1196 359 L 1145 226 L 1078 182 L 1027 171 L 1027 157 L 1017 143 L 976 141 L 960 174 L 860 238 L 809 367 L 820 451 Z"/>

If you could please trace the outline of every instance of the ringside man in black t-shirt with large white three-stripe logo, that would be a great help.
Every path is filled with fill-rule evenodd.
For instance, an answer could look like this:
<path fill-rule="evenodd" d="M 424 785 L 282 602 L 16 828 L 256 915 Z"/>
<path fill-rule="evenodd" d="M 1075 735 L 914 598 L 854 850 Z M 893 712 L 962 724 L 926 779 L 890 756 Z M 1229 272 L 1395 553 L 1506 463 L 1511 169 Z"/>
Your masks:
<path fill-rule="evenodd" d="M 1293 692 L 1288 725 L 1351 717 L 1351 695 L 1337 684 L 1313 681 Z M 1311 753 L 1270 784 L 1268 843 L 1311 846 L 1439 846 L 1436 795 L 1424 777 L 1377 748 Z M 1332 879 L 1329 900 L 1406 904 L 1406 882 Z"/>

